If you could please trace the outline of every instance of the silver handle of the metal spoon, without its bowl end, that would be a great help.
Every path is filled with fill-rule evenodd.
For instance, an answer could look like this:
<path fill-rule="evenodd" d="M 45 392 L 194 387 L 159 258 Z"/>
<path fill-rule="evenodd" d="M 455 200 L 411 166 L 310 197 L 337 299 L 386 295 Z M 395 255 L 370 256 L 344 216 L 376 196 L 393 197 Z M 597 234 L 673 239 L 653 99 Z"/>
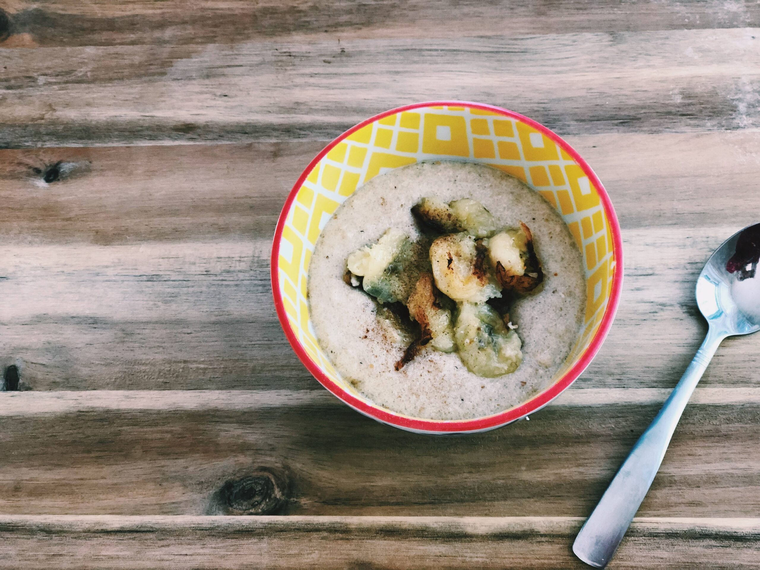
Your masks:
<path fill-rule="evenodd" d="M 660 468 L 665 451 L 692 396 L 699 378 L 707 369 L 720 341 L 727 335 L 711 327 L 676 388 L 660 413 L 633 446 L 615 478 L 607 487 L 597 508 L 587 518 L 573 544 L 575 556 L 589 565 L 603 568 L 613 557 L 625 530 L 628 530 L 639 505 Z"/>

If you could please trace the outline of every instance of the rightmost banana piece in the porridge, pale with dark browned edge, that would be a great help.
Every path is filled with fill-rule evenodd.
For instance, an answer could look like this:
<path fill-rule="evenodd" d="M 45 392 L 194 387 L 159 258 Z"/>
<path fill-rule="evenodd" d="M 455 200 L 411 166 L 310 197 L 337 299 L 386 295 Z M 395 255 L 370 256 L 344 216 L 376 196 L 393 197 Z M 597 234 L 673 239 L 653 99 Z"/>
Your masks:
<path fill-rule="evenodd" d="M 520 230 L 504 230 L 489 239 L 488 253 L 496 280 L 505 291 L 530 293 L 543 282 L 533 234 L 524 223 Z"/>

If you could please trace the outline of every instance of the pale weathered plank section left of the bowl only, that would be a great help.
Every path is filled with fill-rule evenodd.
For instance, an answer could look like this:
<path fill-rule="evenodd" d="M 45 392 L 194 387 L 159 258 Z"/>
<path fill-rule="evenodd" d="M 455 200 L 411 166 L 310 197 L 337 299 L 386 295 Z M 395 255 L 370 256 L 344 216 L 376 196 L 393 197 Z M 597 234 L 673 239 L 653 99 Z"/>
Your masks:
<path fill-rule="evenodd" d="M 269 247 L 0 246 L 0 366 L 22 390 L 315 388 L 274 314 Z"/>

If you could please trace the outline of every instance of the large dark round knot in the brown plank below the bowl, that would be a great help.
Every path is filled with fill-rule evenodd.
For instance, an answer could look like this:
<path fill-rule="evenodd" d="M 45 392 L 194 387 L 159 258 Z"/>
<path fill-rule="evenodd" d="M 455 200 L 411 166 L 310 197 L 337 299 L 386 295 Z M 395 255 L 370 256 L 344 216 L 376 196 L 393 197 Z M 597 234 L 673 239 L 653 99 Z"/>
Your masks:
<path fill-rule="evenodd" d="M 225 515 L 274 515 L 287 503 L 287 479 L 274 470 L 260 469 L 227 480 L 217 492 L 214 511 Z"/>

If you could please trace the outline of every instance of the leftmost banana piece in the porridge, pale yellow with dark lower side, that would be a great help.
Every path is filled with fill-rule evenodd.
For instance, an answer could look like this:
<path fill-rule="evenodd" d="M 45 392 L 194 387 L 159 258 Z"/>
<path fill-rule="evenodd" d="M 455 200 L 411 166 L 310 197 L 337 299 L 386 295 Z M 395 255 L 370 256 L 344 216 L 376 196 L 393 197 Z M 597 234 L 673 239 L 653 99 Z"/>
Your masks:
<path fill-rule="evenodd" d="M 346 265 L 350 273 L 347 283 L 353 287 L 360 284 L 381 303 L 407 302 L 420 273 L 429 270 L 424 246 L 396 228 L 351 253 Z"/>

